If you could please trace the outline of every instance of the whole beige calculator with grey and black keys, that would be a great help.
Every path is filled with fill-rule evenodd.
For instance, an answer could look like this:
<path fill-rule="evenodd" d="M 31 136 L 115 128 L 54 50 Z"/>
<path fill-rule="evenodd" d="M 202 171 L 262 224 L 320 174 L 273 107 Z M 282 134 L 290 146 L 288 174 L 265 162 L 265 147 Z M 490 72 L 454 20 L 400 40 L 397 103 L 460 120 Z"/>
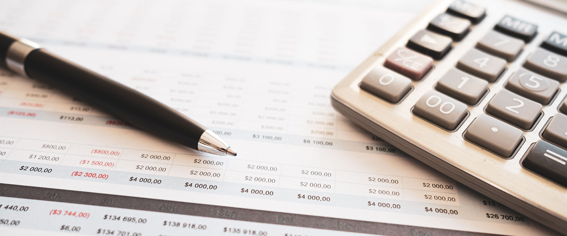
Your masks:
<path fill-rule="evenodd" d="M 549 3 L 436 1 L 342 79 L 332 105 L 567 234 L 567 3 Z"/>

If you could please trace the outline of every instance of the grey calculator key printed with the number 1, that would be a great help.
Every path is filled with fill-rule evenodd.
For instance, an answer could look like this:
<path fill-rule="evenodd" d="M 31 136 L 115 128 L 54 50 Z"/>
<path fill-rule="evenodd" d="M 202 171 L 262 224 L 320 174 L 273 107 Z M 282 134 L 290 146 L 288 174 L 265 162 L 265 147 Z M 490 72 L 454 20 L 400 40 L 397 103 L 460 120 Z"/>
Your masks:
<path fill-rule="evenodd" d="M 468 105 L 475 105 L 488 91 L 488 82 L 450 68 L 435 84 L 435 89 Z"/>

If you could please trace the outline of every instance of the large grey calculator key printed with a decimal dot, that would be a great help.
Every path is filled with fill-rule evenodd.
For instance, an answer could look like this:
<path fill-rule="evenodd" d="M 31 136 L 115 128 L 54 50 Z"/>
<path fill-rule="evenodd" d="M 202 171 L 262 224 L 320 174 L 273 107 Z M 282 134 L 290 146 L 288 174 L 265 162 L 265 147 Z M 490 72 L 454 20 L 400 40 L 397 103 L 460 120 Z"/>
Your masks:
<path fill-rule="evenodd" d="M 511 157 L 522 143 L 523 132 L 489 115 L 480 114 L 464 132 L 464 138 L 502 157 Z"/>

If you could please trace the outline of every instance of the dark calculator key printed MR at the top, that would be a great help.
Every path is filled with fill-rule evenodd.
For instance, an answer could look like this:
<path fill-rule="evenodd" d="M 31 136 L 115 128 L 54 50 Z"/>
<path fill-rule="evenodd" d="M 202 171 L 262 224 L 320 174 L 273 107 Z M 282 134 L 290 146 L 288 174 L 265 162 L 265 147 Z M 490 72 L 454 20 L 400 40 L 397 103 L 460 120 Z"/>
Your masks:
<path fill-rule="evenodd" d="M 517 37 L 524 42 L 530 42 L 538 33 L 538 25 L 524 22 L 509 15 L 505 15 L 494 28 L 506 35 Z"/>

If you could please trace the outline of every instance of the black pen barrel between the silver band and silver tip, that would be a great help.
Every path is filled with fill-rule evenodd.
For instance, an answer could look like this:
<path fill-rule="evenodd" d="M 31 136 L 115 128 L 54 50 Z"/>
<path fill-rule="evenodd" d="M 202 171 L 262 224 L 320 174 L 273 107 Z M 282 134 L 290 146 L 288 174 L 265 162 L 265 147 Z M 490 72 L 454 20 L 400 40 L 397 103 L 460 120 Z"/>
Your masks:
<path fill-rule="evenodd" d="M 24 62 L 33 79 L 69 92 L 134 126 L 162 138 L 197 149 L 206 128 L 179 111 L 94 71 L 60 58 L 45 49 L 35 49 Z"/>

